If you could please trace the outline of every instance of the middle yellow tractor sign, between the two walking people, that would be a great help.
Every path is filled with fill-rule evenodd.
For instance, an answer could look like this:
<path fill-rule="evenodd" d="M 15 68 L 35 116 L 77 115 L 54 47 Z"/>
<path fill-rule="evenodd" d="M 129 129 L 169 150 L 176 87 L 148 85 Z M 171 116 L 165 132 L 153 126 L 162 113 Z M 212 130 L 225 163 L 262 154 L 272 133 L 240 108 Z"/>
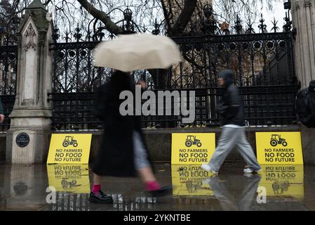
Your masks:
<path fill-rule="evenodd" d="M 172 164 L 203 164 L 215 151 L 214 133 L 172 134 Z"/>

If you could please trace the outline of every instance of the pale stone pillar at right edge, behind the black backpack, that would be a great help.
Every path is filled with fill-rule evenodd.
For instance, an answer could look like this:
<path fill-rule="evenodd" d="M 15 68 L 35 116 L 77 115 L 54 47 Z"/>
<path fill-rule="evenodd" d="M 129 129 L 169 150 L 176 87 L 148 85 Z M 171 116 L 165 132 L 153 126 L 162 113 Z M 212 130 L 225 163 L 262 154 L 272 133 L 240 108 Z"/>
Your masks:
<path fill-rule="evenodd" d="M 315 2 L 292 0 L 293 29 L 295 39 L 295 71 L 302 88 L 315 79 Z M 315 165 L 315 129 L 302 125 L 304 163 Z"/>

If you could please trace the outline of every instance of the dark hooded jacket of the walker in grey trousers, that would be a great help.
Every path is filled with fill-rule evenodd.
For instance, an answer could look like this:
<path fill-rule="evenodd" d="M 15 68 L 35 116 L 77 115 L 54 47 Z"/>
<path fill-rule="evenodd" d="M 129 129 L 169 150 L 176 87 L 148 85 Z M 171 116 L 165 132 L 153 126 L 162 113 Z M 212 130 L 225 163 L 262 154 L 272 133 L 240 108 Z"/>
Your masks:
<path fill-rule="evenodd" d="M 234 124 L 243 127 L 245 125 L 243 99 L 233 84 L 233 73 L 231 70 L 223 70 L 219 77 L 224 79 L 222 101 L 217 105 L 217 112 L 221 115 L 221 126 Z"/>

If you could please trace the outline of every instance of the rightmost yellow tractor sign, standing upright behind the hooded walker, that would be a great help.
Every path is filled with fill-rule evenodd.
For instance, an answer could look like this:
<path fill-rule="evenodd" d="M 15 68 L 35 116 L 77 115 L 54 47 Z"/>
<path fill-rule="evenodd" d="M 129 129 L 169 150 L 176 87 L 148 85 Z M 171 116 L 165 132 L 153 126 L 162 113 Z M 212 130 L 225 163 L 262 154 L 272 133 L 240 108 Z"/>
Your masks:
<path fill-rule="evenodd" d="M 303 164 L 300 132 L 256 132 L 256 148 L 262 165 Z"/>

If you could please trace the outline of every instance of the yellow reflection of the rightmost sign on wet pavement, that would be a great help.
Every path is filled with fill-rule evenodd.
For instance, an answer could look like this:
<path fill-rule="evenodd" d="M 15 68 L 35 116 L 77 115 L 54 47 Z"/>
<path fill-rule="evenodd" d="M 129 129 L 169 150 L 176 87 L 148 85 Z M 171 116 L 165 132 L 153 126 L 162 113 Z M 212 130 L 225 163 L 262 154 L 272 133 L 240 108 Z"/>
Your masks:
<path fill-rule="evenodd" d="M 304 198 L 303 165 L 262 165 L 260 174 L 267 196 Z"/>

